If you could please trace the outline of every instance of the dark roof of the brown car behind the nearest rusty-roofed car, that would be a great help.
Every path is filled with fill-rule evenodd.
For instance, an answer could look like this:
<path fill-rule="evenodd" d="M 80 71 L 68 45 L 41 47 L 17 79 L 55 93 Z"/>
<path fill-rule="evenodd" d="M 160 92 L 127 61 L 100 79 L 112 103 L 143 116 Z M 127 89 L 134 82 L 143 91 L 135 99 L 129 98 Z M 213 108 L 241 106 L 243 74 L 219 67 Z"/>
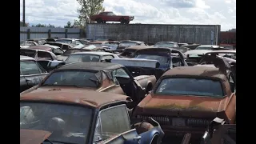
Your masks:
<path fill-rule="evenodd" d="M 123 67 L 111 62 L 75 62 L 59 67 L 56 70 L 114 70 Z"/>

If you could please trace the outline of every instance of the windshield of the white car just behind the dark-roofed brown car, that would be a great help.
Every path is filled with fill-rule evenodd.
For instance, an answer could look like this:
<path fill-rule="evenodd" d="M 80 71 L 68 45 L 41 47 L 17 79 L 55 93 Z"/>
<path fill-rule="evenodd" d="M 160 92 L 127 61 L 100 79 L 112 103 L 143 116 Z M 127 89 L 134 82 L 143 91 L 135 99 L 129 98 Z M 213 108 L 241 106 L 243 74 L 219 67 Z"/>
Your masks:
<path fill-rule="evenodd" d="M 99 62 L 100 57 L 94 54 L 71 54 L 66 59 L 66 64 L 72 62 Z"/>

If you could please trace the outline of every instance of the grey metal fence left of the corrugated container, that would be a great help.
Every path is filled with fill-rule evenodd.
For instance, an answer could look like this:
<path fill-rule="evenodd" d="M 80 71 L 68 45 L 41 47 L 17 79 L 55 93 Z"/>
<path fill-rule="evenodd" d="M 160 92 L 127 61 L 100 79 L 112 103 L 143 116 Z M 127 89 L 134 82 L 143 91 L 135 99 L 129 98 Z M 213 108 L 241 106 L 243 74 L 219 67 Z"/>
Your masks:
<path fill-rule="evenodd" d="M 83 38 L 85 30 L 77 28 L 20 27 L 20 41 L 31 38 Z"/>

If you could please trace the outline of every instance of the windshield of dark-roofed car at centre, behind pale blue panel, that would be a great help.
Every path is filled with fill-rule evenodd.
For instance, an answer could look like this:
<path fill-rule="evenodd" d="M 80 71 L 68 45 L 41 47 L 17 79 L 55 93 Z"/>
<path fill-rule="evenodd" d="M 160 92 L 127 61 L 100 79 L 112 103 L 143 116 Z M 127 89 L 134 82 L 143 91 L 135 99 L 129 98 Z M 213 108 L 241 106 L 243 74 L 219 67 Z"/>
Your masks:
<path fill-rule="evenodd" d="M 145 59 L 153 59 L 157 60 L 161 66 L 168 66 L 169 59 L 166 56 L 162 55 L 151 55 L 151 54 L 138 54 L 136 58 L 145 58 Z"/>

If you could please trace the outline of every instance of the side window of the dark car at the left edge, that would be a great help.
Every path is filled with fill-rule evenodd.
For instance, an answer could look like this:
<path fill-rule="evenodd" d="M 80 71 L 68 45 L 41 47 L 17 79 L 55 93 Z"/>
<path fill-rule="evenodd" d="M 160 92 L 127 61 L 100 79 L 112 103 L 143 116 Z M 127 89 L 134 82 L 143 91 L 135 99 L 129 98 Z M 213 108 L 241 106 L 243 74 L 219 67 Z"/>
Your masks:
<path fill-rule="evenodd" d="M 41 74 L 42 70 L 38 67 L 38 63 L 34 61 L 21 61 L 20 68 L 23 75 Z"/>

